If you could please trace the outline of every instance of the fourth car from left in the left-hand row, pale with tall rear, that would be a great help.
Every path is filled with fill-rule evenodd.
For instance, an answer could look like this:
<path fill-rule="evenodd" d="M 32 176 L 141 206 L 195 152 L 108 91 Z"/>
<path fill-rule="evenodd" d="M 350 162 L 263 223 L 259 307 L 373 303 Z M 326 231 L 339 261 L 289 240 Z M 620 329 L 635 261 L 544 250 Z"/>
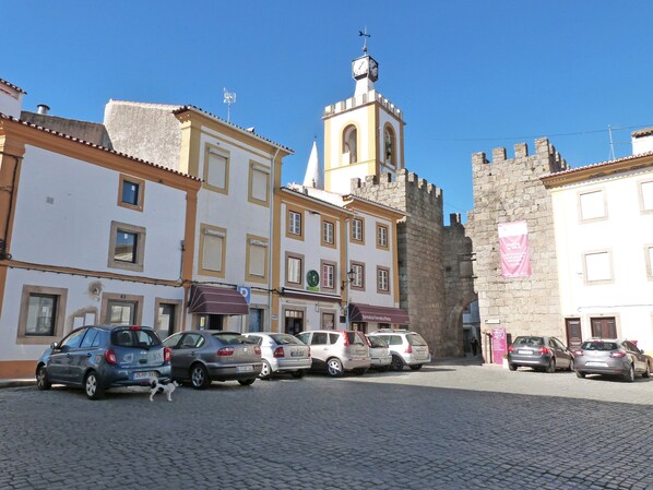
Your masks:
<path fill-rule="evenodd" d="M 330 377 L 342 377 L 345 371 L 363 374 L 369 369 L 369 346 L 363 332 L 320 330 L 296 336 L 310 347 L 312 370 L 326 370 Z"/>

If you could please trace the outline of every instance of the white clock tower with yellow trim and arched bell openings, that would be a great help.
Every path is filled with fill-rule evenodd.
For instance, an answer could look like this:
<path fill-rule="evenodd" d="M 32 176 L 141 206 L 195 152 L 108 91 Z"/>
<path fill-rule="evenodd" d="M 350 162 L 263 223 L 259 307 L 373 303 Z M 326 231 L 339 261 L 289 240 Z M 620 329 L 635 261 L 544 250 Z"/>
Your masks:
<path fill-rule="evenodd" d="M 326 106 L 322 117 L 324 190 L 341 194 L 349 193 L 354 178 L 394 177 L 404 168 L 403 113 L 375 89 L 379 63 L 367 53 L 367 43 L 352 61 L 352 76 L 354 96 Z"/>

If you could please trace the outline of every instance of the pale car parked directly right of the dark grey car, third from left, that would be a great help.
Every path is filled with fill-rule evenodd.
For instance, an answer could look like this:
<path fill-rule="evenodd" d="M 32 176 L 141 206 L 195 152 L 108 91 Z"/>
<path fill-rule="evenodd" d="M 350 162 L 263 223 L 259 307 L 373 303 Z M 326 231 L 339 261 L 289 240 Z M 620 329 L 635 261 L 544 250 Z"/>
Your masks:
<path fill-rule="evenodd" d="M 289 372 L 293 378 L 301 378 L 310 369 L 310 347 L 299 338 L 270 332 L 242 335 L 261 347 L 263 364 L 259 378 L 269 380 L 278 372 Z"/>

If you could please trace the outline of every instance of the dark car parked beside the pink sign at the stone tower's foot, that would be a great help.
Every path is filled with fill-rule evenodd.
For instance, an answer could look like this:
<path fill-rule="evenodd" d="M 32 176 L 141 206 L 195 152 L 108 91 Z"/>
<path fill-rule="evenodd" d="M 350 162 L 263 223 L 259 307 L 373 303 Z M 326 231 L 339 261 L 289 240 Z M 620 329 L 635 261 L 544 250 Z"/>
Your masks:
<path fill-rule="evenodd" d="M 573 352 L 556 337 L 524 335 L 508 346 L 508 368 L 515 371 L 520 366 L 549 373 L 573 371 Z"/>

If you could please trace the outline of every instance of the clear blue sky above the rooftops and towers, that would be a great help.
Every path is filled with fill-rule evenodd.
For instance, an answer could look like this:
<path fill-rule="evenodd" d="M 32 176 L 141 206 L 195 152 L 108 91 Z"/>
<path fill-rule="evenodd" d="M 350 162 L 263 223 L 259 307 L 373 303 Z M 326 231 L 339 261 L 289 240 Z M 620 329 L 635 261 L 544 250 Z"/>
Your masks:
<path fill-rule="evenodd" d="M 351 61 L 404 111 L 405 164 L 473 207 L 471 158 L 548 136 L 572 167 L 630 154 L 653 126 L 653 1 L 112 0 L 0 3 L 0 77 L 24 109 L 100 122 L 109 98 L 191 104 L 295 151 L 301 181 L 322 111 L 353 95 Z"/>

